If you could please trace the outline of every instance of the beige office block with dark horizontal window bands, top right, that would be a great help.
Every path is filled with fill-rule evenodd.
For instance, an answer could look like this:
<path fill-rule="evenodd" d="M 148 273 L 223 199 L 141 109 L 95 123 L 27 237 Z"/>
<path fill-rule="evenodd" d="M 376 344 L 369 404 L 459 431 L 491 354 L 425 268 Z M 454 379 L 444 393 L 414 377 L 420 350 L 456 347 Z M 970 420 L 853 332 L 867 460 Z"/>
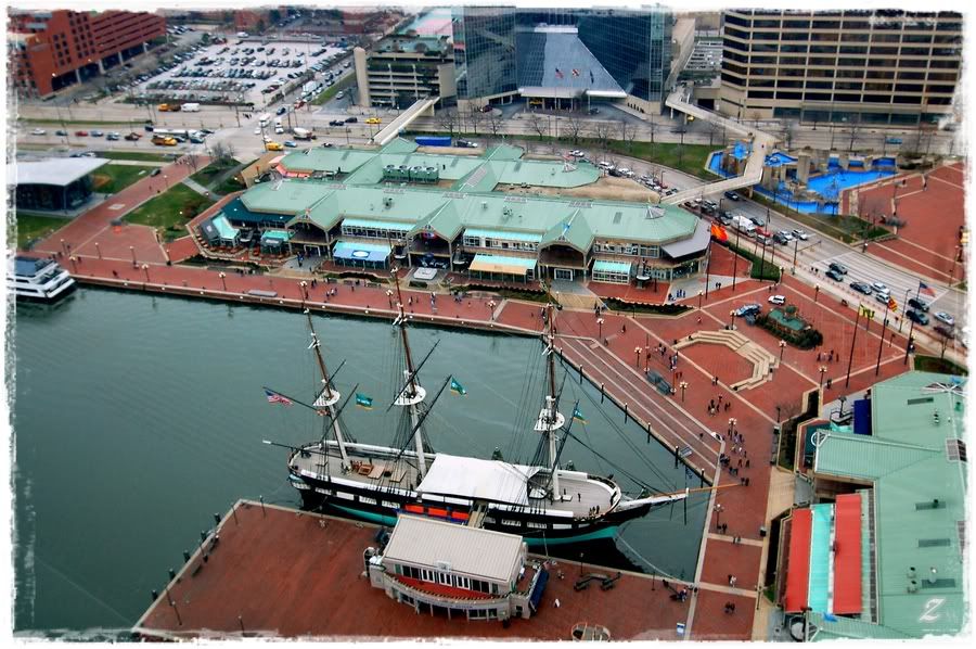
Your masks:
<path fill-rule="evenodd" d="M 719 111 L 740 119 L 938 124 L 952 113 L 962 15 L 728 11 Z"/>

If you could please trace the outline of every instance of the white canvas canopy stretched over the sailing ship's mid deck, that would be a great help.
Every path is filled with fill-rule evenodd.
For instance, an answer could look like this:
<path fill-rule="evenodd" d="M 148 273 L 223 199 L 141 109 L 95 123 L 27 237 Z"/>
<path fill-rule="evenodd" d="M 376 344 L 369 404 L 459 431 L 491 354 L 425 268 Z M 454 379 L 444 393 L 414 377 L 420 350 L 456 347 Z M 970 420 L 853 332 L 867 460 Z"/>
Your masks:
<path fill-rule="evenodd" d="M 437 454 L 416 491 L 475 500 L 528 505 L 529 478 L 539 467 Z"/>

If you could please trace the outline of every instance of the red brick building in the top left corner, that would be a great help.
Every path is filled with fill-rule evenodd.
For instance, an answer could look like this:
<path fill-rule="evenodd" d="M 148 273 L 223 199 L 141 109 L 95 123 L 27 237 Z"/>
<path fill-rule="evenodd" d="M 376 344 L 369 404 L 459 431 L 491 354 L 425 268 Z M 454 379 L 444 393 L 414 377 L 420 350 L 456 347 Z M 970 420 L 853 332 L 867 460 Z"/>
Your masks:
<path fill-rule="evenodd" d="M 144 52 L 166 36 L 166 18 L 146 12 L 11 10 L 8 48 L 16 91 L 47 97 Z"/>

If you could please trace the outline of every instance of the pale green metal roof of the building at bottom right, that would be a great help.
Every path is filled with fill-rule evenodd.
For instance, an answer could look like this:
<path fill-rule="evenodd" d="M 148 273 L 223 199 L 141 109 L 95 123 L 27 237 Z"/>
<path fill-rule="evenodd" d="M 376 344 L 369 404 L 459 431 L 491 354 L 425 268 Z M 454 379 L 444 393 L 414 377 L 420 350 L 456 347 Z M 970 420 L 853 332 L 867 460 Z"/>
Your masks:
<path fill-rule="evenodd" d="M 958 634 L 966 622 L 960 545 L 966 463 L 948 451 L 962 434 L 965 399 L 964 386 L 953 380 L 909 372 L 878 383 L 872 389 L 872 435 L 826 432 L 818 442 L 817 473 L 874 487 L 879 626 L 876 635 L 855 637 Z M 909 591 L 911 568 L 916 572 L 914 593 Z M 842 633 L 844 626 L 833 629 Z"/>

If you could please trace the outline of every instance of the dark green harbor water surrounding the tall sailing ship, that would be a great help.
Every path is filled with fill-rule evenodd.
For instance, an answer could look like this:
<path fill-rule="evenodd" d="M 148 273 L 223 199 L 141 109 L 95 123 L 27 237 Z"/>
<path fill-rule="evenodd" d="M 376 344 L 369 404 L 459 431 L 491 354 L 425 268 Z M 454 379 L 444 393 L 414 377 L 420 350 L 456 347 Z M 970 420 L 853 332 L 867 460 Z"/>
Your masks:
<path fill-rule="evenodd" d="M 339 390 L 359 383 L 375 400 L 370 411 L 347 408 L 347 428 L 361 442 L 389 444 L 398 416 L 385 412 L 395 378 L 390 326 L 317 316 L 316 327 L 332 368 L 346 361 Z M 261 444 L 320 434 L 314 415 L 272 406 L 261 391 L 309 398 L 314 390 L 298 314 L 82 289 L 53 309 L 18 306 L 12 335 L 16 631 L 128 628 L 215 512 L 259 495 L 299 504 L 286 483 L 286 451 Z M 440 397 L 426 424 L 435 448 L 488 458 L 499 446 L 505 459 L 527 461 L 537 443 L 528 420 L 540 404 L 541 345 L 411 329 L 418 356 L 437 340 L 421 372 L 428 394 L 453 373 L 467 396 Z M 665 491 L 698 486 L 619 410 L 601 409 L 592 386 L 570 378 L 562 410 L 569 415 L 577 399 L 588 424 L 573 432 L 608 460 L 569 440 L 563 458 L 577 469 L 616 473 L 627 489 L 635 487 L 624 471 Z M 588 549 L 600 557 L 586 558 L 639 570 L 650 562 L 691 578 L 704 509 L 705 497 L 693 498 L 686 525 L 680 506 L 654 511 L 624 530 L 620 555 Z"/>

